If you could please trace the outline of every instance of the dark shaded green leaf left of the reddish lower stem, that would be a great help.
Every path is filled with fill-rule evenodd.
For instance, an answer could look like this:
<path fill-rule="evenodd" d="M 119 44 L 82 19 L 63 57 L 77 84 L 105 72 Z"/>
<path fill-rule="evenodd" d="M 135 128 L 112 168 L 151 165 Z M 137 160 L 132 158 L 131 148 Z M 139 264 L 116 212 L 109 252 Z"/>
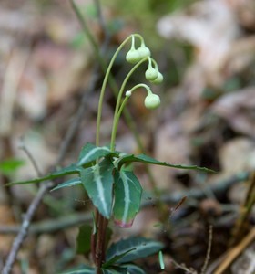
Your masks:
<path fill-rule="evenodd" d="M 84 225 L 79 227 L 79 233 L 76 238 L 77 254 L 87 255 L 89 253 L 91 232 L 92 232 L 92 227 L 89 225 Z"/>

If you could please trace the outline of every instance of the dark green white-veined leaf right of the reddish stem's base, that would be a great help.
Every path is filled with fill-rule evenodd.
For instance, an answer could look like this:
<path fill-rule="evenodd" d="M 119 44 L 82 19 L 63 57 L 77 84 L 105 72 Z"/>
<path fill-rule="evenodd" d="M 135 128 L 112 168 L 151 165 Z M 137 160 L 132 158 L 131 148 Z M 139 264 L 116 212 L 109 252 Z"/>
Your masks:
<path fill-rule="evenodd" d="M 130 237 L 125 240 L 120 240 L 108 248 L 107 261 L 130 249 L 134 250 L 117 260 L 117 263 L 126 263 L 138 258 L 146 258 L 157 253 L 162 248 L 163 245 L 158 241 L 153 241 L 144 237 Z"/>

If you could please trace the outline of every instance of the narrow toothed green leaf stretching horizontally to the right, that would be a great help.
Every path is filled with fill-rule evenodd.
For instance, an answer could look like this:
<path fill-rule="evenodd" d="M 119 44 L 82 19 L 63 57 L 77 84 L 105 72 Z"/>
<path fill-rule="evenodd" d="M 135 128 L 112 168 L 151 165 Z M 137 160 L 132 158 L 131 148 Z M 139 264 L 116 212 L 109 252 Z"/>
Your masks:
<path fill-rule="evenodd" d="M 157 165 L 163 165 L 168 167 L 174 167 L 179 169 L 190 169 L 190 170 L 198 170 L 202 172 L 209 172 L 209 173 L 215 173 L 215 171 L 206 168 L 206 167 L 199 167 L 197 165 L 182 165 L 182 164 L 172 164 L 167 162 L 160 162 L 152 157 L 149 157 L 146 154 L 139 154 L 137 156 L 133 154 L 127 154 L 119 160 L 117 160 L 117 169 L 119 170 L 123 164 L 132 163 L 132 162 L 139 162 L 139 163 L 151 163 L 151 164 L 157 164 Z"/>

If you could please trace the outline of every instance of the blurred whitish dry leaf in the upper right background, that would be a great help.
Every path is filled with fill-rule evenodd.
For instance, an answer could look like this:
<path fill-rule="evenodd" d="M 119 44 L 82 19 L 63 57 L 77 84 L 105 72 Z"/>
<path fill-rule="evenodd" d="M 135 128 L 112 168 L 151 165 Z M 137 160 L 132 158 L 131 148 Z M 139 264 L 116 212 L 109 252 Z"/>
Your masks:
<path fill-rule="evenodd" d="M 189 41 L 197 50 L 197 62 L 215 71 L 222 66 L 239 27 L 229 5 L 223 0 L 200 1 L 186 12 L 163 17 L 158 22 L 162 37 Z M 217 41 L 217 43 L 216 43 Z"/>

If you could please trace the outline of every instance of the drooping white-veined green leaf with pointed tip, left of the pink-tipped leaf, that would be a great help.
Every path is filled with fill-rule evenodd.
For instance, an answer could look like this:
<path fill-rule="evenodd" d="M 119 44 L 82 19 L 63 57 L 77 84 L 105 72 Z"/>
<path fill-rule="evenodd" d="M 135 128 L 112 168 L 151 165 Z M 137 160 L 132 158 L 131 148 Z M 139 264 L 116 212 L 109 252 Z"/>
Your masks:
<path fill-rule="evenodd" d="M 81 181 L 87 195 L 100 214 L 107 219 L 110 217 L 113 201 L 113 168 L 111 161 L 104 159 L 93 167 L 81 171 Z"/>

